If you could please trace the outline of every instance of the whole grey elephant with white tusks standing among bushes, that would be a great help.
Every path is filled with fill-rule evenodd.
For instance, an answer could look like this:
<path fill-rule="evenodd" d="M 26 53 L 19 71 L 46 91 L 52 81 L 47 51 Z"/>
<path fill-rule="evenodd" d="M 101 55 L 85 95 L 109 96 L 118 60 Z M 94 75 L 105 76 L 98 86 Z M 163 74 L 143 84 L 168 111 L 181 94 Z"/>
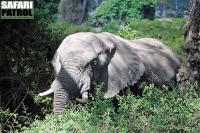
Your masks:
<path fill-rule="evenodd" d="M 152 38 L 125 40 L 108 32 L 80 32 L 66 37 L 52 60 L 55 79 L 54 113 L 63 114 L 76 98 L 85 103 L 88 93 L 95 95 L 93 82 L 104 83 L 105 98 L 114 97 L 128 86 L 143 81 L 156 86 L 169 84 L 180 60 L 169 47 Z"/>

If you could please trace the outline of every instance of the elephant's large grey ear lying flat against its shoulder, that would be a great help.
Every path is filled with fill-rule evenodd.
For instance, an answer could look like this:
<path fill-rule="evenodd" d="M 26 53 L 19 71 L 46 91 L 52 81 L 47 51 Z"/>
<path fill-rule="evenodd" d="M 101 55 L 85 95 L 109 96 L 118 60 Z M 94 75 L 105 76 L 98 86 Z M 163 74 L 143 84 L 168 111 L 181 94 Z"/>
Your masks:
<path fill-rule="evenodd" d="M 145 71 L 143 61 L 137 55 L 137 51 L 130 46 L 131 44 L 118 37 L 112 37 L 112 40 L 116 50 L 103 69 L 99 80 L 105 83 L 106 98 L 117 95 L 120 90 L 129 85 L 133 86 Z"/>

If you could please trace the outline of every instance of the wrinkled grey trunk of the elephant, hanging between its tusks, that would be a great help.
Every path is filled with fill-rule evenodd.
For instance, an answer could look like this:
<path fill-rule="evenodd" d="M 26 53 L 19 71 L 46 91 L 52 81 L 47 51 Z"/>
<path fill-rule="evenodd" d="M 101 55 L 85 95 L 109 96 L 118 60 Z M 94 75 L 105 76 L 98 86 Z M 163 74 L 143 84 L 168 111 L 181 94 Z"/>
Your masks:
<path fill-rule="evenodd" d="M 72 98 L 79 95 L 77 80 L 75 75 L 61 69 L 57 78 L 52 84 L 54 90 L 54 113 L 63 114 L 66 107 L 69 106 Z"/>

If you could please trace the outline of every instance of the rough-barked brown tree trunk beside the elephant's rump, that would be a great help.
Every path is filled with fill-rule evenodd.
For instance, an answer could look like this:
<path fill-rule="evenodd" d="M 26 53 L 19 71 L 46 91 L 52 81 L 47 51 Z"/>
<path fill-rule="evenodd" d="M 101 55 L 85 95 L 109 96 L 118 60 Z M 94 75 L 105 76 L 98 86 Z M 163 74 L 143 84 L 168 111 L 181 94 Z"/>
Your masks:
<path fill-rule="evenodd" d="M 177 74 L 180 89 L 191 84 L 200 91 L 200 0 L 190 0 L 189 16 L 183 27 L 186 55 Z"/>

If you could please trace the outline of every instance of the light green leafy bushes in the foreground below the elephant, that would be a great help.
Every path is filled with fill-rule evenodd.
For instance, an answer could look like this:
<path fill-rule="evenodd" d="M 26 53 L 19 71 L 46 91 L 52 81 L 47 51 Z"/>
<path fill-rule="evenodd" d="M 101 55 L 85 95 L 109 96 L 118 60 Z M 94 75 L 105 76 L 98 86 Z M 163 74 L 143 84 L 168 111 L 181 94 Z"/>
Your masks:
<path fill-rule="evenodd" d="M 61 116 L 47 115 L 23 132 L 200 132 L 200 98 L 190 86 L 168 91 L 142 84 L 142 97 L 129 91 L 117 96 L 117 111 L 112 99 L 103 99 L 102 85 L 95 86 L 97 96 L 90 103 L 72 105 Z"/>

